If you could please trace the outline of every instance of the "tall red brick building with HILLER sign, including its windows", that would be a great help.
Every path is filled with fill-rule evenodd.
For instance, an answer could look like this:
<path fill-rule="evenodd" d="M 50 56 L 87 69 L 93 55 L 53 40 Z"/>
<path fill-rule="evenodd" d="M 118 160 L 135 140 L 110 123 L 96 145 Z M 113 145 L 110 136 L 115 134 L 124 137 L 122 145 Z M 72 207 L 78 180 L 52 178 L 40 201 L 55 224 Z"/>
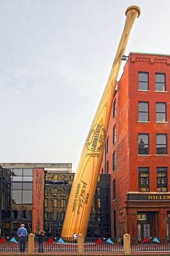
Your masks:
<path fill-rule="evenodd" d="M 112 235 L 170 236 L 170 56 L 130 53 L 117 84 L 101 173 Z"/>

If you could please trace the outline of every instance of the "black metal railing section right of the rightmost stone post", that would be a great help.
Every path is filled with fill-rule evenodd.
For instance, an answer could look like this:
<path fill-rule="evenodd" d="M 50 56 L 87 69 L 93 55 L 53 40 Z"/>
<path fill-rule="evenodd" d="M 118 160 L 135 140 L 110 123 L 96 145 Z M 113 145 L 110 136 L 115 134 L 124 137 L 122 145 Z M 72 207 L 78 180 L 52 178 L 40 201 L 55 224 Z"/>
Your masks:
<path fill-rule="evenodd" d="M 169 251 L 169 237 L 131 238 L 131 251 Z"/>

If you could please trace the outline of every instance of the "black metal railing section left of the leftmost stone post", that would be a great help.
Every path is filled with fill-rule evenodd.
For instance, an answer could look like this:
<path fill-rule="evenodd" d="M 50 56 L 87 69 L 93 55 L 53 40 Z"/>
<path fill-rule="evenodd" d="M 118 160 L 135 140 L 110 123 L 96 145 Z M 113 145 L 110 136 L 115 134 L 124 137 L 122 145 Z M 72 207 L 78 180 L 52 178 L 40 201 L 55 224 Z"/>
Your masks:
<path fill-rule="evenodd" d="M 0 252 L 19 252 L 19 238 L 15 236 L 0 237 Z M 27 252 L 27 242 L 25 251 Z"/>

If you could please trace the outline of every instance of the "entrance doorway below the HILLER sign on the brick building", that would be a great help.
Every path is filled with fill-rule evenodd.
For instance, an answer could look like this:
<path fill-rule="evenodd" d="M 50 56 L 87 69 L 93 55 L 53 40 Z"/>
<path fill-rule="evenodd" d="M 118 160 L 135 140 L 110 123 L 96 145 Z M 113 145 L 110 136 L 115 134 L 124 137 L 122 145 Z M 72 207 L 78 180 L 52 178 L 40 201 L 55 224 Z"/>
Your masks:
<path fill-rule="evenodd" d="M 158 214 L 156 212 L 138 212 L 138 241 L 158 234 Z"/>

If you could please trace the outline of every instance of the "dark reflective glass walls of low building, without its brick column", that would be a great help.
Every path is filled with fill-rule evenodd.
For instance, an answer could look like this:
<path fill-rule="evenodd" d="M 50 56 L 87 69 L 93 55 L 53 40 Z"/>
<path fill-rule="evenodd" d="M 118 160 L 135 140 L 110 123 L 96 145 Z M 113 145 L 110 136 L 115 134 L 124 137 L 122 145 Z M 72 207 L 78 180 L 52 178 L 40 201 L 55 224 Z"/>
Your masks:
<path fill-rule="evenodd" d="M 60 236 L 73 173 L 45 171 L 44 219 L 49 236 Z M 32 168 L 0 168 L 0 235 L 15 236 L 20 223 L 32 231 Z M 88 236 L 110 236 L 109 174 L 101 174 Z"/>

